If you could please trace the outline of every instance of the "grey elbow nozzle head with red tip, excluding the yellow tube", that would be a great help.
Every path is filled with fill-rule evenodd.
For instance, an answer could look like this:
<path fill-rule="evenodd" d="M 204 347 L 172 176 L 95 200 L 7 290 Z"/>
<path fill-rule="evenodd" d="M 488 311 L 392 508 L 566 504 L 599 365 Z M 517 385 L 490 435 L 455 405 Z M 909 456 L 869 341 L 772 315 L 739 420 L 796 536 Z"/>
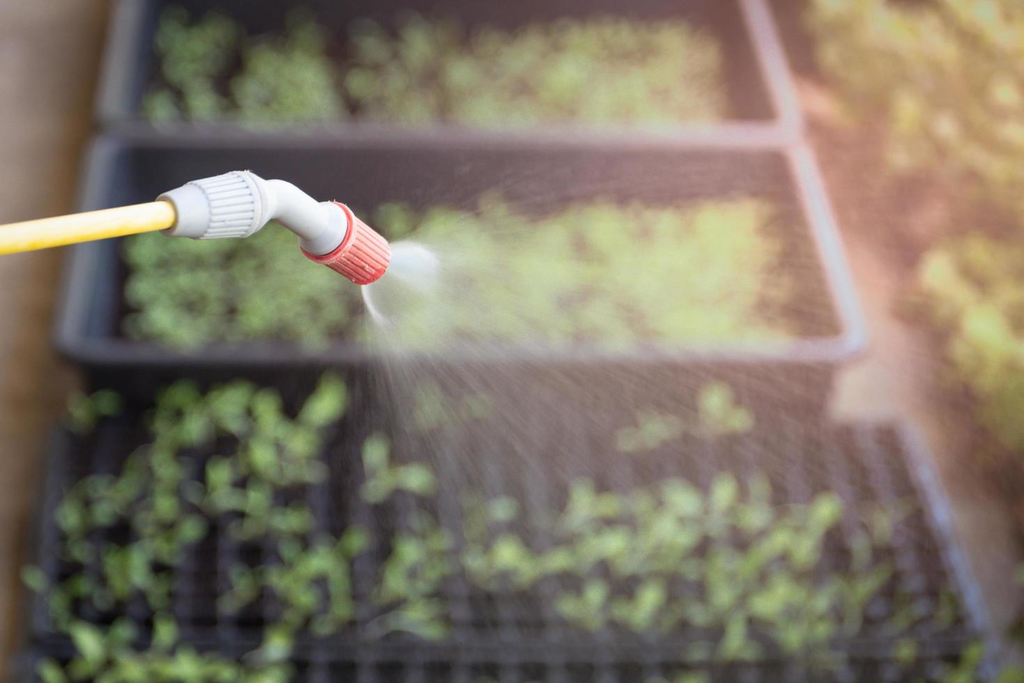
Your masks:
<path fill-rule="evenodd" d="M 317 202 L 290 182 L 233 171 L 164 193 L 176 221 L 164 232 L 194 240 L 248 238 L 276 220 L 299 238 L 302 253 L 356 285 L 384 274 L 387 241 L 338 202 Z"/>

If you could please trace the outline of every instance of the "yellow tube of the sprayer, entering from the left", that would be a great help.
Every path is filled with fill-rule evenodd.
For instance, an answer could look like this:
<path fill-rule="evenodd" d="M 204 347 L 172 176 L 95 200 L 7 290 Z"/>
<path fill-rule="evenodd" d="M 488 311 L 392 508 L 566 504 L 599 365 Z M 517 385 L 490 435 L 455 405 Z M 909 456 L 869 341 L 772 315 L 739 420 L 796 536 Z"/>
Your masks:
<path fill-rule="evenodd" d="M 151 202 L 10 223 L 0 225 L 0 254 L 153 232 L 173 227 L 175 220 L 174 205 L 170 202 Z"/>

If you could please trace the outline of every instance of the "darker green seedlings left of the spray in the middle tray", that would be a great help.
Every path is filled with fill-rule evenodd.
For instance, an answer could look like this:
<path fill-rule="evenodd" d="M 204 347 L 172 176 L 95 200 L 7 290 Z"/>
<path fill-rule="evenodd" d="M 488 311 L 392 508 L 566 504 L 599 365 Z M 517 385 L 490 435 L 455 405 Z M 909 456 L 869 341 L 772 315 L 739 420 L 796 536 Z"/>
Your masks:
<path fill-rule="evenodd" d="M 123 332 L 181 349 L 213 341 L 323 346 L 351 329 L 359 292 L 310 263 L 295 236 L 270 224 L 246 240 L 123 242 L 130 312 Z"/>

